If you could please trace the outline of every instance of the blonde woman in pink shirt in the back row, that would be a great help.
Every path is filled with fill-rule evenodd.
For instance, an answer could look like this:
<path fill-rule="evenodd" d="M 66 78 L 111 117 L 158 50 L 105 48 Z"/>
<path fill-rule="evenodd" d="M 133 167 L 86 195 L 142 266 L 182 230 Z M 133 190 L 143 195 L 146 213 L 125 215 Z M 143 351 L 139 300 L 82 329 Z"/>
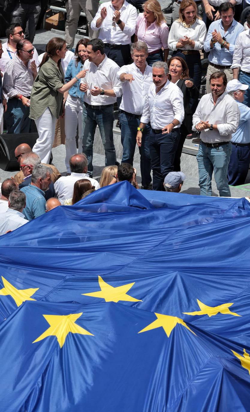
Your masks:
<path fill-rule="evenodd" d="M 139 14 L 137 20 L 135 42 L 141 40 L 147 44 L 147 63 L 152 66 L 155 61 L 167 61 L 168 26 L 157 0 L 148 0 L 143 4 L 143 9 L 144 12 Z"/>

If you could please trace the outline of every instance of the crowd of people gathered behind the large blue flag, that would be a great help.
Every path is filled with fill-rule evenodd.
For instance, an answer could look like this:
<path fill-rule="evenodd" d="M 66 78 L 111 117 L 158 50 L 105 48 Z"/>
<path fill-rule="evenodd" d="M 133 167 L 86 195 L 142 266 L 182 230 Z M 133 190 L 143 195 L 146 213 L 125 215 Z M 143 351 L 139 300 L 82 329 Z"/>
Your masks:
<path fill-rule="evenodd" d="M 214 173 L 220 196 L 231 196 L 229 185 L 243 184 L 250 164 L 250 15 L 245 29 L 234 19 L 235 0 L 176 0 L 169 29 L 157 0 L 147 0 L 139 14 L 137 3 L 111 0 L 94 13 L 90 7 L 91 39 L 79 40 L 73 53 L 72 16 L 80 3 L 67 3 L 65 39 L 49 40 L 42 55 L 18 22 L 0 43 L 0 132 L 5 122 L 7 133 L 38 133 L 33 148 L 26 142 L 16 147 L 20 172 L 2 183 L 1 234 L 6 219 L 15 228 L 104 185 L 129 180 L 138 188 L 136 144 L 141 188 L 180 191 L 182 147 L 192 132 L 200 134 L 201 194 L 212 194 Z M 209 65 L 207 93 L 199 99 L 201 51 L 209 53 Z M 119 166 L 114 105 L 123 146 Z M 49 165 L 58 122 L 65 133 L 66 176 Z M 92 164 L 97 126 L 105 150 L 99 183 Z"/>

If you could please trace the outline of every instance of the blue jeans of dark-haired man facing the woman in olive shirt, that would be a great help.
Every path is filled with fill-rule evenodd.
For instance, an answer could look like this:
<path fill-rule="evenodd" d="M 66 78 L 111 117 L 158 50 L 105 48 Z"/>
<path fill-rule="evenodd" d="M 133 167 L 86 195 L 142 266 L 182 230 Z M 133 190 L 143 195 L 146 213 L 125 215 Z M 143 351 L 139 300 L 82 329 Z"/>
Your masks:
<path fill-rule="evenodd" d="M 82 152 L 88 159 L 88 173 L 93 174 L 93 142 L 98 125 L 105 150 L 105 166 L 112 166 L 116 162 L 113 141 L 114 108 L 113 105 L 102 106 L 101 110 L 86 107 L 82 108 Z"/>

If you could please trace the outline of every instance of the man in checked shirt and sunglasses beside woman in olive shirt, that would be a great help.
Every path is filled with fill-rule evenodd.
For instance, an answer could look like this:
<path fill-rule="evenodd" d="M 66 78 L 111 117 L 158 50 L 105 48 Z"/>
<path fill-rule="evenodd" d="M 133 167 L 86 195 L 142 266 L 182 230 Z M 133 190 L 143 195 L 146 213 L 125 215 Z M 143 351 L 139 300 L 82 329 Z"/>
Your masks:
<path fill-rule="evenodd" d="M 7 94 L 7 133 L 29 133 L 30 93 L 37 75 L 33 59 L 34 47 L 29 40 L 16 44 L 16 56 L 7 63 L 3 78 L 3 89 Z"/>

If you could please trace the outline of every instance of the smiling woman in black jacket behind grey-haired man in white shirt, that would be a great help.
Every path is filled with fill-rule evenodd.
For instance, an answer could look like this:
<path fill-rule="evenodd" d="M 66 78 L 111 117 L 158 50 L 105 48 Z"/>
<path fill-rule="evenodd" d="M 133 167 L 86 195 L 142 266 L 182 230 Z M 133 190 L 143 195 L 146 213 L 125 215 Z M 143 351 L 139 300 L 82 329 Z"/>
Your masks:
<path fill-rule="evenodd" d="M 187 68 L 187 63 L 182 57 L 173 56 L 168 61 L 168 80 L 171 83 L 176 84 L 183 93 L 183 105 L 184 105 L 184 120 L 180 126 L 180 140 L 178 143 L 178 148 L 175 152 L 174 159 L 174 171 L 180 171 L 180 157 L 182 154 L 182 147 L 184 145 L 187 134 L 192 133 L 192 118 L 193 110 L 190 108 L 190 100 L 198 100 L 199 90 L 194 84 L 194 80 L 189 77 L 189 70 Z"/>

